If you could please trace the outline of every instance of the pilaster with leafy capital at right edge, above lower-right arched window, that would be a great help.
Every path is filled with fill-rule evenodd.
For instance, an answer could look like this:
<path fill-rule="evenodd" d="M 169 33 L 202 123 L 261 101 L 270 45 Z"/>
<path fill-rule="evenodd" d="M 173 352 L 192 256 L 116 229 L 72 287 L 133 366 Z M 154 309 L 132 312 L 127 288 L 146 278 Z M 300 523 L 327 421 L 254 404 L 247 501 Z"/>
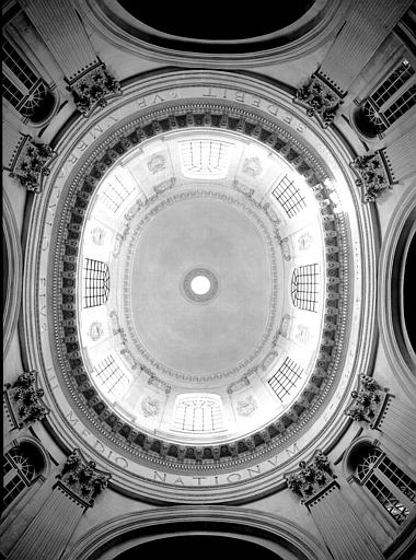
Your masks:
<path fill-rule="evenodd" d="M 358 386 L 351 392 L 353 402 L 345 415 L 370 424 L 390 438 L 403 450 L 416 455 L 416 408 L 395 399 L 367 375 L 359 375 Z"/>

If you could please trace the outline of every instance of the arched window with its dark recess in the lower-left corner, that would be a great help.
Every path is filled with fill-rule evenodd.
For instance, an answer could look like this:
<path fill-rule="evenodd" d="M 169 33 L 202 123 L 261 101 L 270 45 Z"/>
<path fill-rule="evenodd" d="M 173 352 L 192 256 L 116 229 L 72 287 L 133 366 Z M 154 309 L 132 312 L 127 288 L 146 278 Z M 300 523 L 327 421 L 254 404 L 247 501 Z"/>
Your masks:
<path fill-rule="evenodd" d="M 34 482 L 44 465 L 42 454 L 31 443 L 21 443 L 3 456 L 3 510 Z"/>

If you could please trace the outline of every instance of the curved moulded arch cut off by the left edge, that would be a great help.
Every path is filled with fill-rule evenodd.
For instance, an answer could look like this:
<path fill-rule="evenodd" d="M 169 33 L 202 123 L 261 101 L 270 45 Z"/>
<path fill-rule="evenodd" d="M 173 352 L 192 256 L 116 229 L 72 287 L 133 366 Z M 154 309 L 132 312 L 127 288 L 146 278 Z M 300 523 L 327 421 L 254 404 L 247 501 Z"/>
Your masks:
<path fill-rule="evenodd" d="M 15 330 L 22 301 L 22 247 L 12 205 L 3 189 L 3 355 Z"/>

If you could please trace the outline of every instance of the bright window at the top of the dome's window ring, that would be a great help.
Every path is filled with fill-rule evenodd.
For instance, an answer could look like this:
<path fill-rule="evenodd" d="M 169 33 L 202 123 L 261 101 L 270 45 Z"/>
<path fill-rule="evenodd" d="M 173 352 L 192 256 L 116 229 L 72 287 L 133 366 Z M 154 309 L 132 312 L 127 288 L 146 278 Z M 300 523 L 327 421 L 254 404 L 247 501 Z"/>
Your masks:
<path fill-rule="evenodd" d="M 231 145 L 218 140 L 189 140 L 181 142 L 182 166 L 189 176 L 226 176 Z"/>

